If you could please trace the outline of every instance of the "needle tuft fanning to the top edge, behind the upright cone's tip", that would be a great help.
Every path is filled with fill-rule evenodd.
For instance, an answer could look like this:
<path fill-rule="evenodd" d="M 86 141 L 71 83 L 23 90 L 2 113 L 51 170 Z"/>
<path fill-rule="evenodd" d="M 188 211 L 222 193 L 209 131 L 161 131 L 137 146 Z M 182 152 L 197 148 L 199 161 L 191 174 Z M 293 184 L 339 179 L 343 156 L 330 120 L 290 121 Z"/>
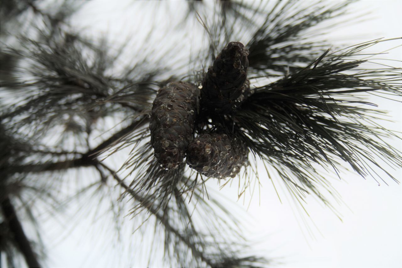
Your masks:
<path fill-rule="evenodd" d="M 325 39 L 315 39 L 317 35 L 325 36 L 331 25 L 343 23 L 332 22 L 331 19 L 346 14 L 348 4 L 351 1 L 311 6 L 294 0 L 274 2 L 264 23 L 254 31 L 246 44 L 250 51 L 250 69 L 277 76 L 309 64 L 332 46 Z M 353 19 L 349 19 L 348 23 L 351 21 Z M 326 29 L 318 28 L 322 22 L 327 23 Z"/>

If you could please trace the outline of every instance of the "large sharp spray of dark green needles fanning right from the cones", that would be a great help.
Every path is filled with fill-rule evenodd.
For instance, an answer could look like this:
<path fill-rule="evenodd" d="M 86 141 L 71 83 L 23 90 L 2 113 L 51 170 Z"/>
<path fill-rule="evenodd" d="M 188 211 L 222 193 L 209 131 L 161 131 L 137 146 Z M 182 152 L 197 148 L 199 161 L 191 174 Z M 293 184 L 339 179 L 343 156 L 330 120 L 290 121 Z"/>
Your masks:
<path fill-rule="evenodd" d="M 316 187 L 326 188 L 326 179 L 317 179 L 320 175 L 314 168 L 316 164 L 332 166 L 338 173 L 342 168 L 340 159 L 363 177 L 371 175 L 381 180 L 384 176 L 373 166 L 390 177 L 388 166 L 402 166 L 400 151 L 382 140 L 384 135 L 400 138 L 399 134 L 376 124 L 381 112 L 353 96 L 373 92 L 401 96 L 397 78 L 401 69 L 346 73 L 365 63 L 347 60 L 350 56 L 379 41 L 332 54 L 327 51 L 299 72 L 256 88 L 234 115 L 244 132 L 242 139 L 255 154 L 272 163 L 296 196 L 314 193 L 325 201 Z M 379 72 L 381 79 L 377 78 Z M 380 157 L 381 164 L 374 156 Z"/>

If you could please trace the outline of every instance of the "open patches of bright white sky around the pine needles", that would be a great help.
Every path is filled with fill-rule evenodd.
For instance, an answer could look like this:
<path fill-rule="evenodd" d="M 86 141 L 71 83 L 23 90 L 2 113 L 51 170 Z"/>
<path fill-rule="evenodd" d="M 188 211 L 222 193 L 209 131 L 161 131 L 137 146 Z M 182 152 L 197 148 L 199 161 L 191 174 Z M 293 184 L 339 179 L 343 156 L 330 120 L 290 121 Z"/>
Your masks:
<path fill-rule="evenodd" d="M 365 21 L 358 26 L 348 25 L 334 35 L 367 36 L 360 39 L 361 41 L 378 37 L 400 37 L 402 36 L 401 3 L 402 1 L 361 1 L 356 5 L 357 9 L 373 10 L 372 16 L 375 19 Z M 174 12 L 179 4 L 170 2 L 169 8 Z M 127 1 L 114 3 L 93 1 L 87 5 L 78 13 L 74 24 L 88 27 L 88 32 L 94 35 L 107 32 L 118 38 L 137 29 L 134 15 L 138 14 L 138 10 L 130 8 Z M 144 18 L 150 19 L 148 13 L 141 13 Z M 123 41 L 122 38 L 121 41 Z M 351 44 L 353 43 L 357 42 Z M 386 48 L 389 47 L 386 45 Z M 381 48 L 378 47 L 378 49 Z M 402 59 L 400 48 L 394 49 L 391 53 L 390 58 Z M 397 121 L 389 127 L 402 130 L 401 104 L 381 99 L 375 99 L 375 102 L 379 104 L 380 109 L 390 111 L 390 115 Z M 400 142 L 392 141 L 392 144 L 402 149 Z M 402 180 L 401 172 L 401 170 L 392 171 L 392 174 Z M 370 178 L 365 181 L 351 173 L 344 174 L 343 181 L 334 179 L 334 188 L 347 204 L 335 204 L 336 209 L 342 214 L 343 222 L 337 219 L 328 208 L 312 198 L 307 199 L 306 205 L 310 217 L 305 213 L 301 213 L 302 216 L 300 216 L 291 202 L 285 198 L 286 194 L 281 194 L 283 201 L 281 204 L 272 184 L 265 181 L 260 192 L 260 200 L 258 200 L 258 194 L 252 198 L 248 208 L 250 215 L 248 222 L 252 227 L 245 231 L 250 233 L 253 239 L 260 241 L 255 245 L 257 249 L 267 252 L 268 258 L 277 258 L 277 261 L 282 263 L 278 265 L 280 267 L 402 267 L 401 186 L 388 178 L 386 181 L 389 186 L 384 183 L 378 186 Z M 236 185 L 224 188 L 221 193 L 231 200 L 237 199 Z M 246 203 L 243 205 L 241 200 L 238 201 L 238 205 L 243 206 L 244 209 L 247 209 L 248 202 Z M 125 220 L 129 221 L 128 218 Z M 303 220 L 307 223 L 304 224 Z M 96 237 L 96 235 L 84 236 L 88 228 L 91 228 L 89 222 L 77 226 L 78 228 L 65 238 L 58 238 L 51 243 L 49 265 L 107 267 L 108 264 L 113 263 L 103 262 L 103 253 L 99 254 L 97 247 L 94 247 L 96 241 L 107 241 L 108 238 Z M 308 229 L 311 229 L 311 233 Z M 46 239 L 52 238 L 50 236 Z M 84 261 L 88 252 L 92 252 L 92 257 Z M 123 258 L 118 256 L 118 252 L 113 253 L 117 254 L 114 257 Z"/>

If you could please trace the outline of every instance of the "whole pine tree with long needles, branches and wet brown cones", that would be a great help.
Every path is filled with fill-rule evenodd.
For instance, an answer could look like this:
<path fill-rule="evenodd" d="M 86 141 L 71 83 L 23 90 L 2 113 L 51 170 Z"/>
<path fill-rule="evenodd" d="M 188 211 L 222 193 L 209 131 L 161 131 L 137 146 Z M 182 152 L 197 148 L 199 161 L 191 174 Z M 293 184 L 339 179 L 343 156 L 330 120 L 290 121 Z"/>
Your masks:
<path fill-rule="evenodd" d="M 367 101 L 402 95 L 401 68 L 368 65 L 381 52 L 367 49 L 390 40 L 317 41 L 317 26 L 338 26 L 351 2 L 302 2 L 187 1 L 168 28 L 177 38 L 195 16 L 205 28 L 189 64 L 162 41 L 116 49 L 84 35 L 71 19 L 81 2 L 2 3 L 1 263 L 46 266 L 39 210 L 57 217 L 83 200 L 94 213 L 107 200 L 116 237 L 123 221 L 153 234 L 149 266 L 269 266 L 207 179 L 258 179 L 260 159 L 295 198 L 325 204 L 332 189 L 317 166 L 398 182 L 388 168 L 402 154 L 383 137 L 400 136 Z"/>

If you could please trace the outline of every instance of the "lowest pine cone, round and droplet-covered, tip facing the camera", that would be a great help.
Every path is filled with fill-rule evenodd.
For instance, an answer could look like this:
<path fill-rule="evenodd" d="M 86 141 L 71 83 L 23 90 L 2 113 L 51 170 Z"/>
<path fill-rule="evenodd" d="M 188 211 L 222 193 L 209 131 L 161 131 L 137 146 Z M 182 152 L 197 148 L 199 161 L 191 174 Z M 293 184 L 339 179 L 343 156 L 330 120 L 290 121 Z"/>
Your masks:
<path fill-rule="evenodd" d="M 187 148 L 187 164 L 208 177 L 235 177 L 248 165 L 248 148 L 226 134 L 201 134 Z"/>

